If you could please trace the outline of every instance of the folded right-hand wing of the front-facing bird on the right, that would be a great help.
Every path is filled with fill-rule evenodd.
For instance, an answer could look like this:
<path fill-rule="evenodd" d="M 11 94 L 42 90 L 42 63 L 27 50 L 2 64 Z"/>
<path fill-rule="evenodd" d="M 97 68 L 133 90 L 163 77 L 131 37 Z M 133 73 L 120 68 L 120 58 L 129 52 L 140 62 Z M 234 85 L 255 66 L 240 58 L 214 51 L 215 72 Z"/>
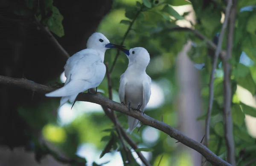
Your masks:
<path fill-rule="evenodd" d="M 147 78 L 143 81 L 142 94 L 143 94 L 143 101 L 142 101 L 141 110 L 144 111 L 151 96 L 151 78 L 148 75 L 147 75 Z"/>

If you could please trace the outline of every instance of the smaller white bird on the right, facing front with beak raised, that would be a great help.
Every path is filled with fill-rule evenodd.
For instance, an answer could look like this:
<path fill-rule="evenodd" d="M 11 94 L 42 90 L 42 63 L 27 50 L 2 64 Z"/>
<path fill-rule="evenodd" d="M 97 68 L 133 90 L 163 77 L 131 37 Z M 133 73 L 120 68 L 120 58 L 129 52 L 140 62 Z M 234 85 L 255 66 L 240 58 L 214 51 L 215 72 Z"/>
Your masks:
<path fill-rule="evenodd" d="M 148 51 L 143 47 L 130 50 L 121 49 L 128 57 L 129 64 L 120 76 L 119 99 L 129 110 L 144 112 L 151 95 L 151 78 L 146 73 L 150 61 Z M 131 132 L 139 124 L 139 120 L 128 116 L 127 132 Z"/>

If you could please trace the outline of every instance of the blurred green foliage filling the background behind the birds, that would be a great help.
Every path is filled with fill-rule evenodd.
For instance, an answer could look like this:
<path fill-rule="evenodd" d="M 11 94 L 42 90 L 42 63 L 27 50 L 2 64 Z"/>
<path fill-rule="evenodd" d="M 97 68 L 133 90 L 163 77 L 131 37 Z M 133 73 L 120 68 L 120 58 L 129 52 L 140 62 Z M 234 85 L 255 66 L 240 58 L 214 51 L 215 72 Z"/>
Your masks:
<path fill-rule="evenodd" d="M 207 1 L 208 2 L 208 1 Z M 199 40 L 190 31 L 169 31 L 176 26 L 177 21 L 188 22 L 193 29 L 204 34 L 209 40 L 215 39 L 215 35 L 221 30 L 221 13 L 225 9 L 225 3 L 221 0 L 215 3 L 206 3 L 204 0 L 191 0 L 191 3 L 185 0 L 115 0 L 112 11 L 102 20 L 98 31 L 105 34 L 111 43 L 120 43 L 132 22 L 134 25 L 128 29 L 128 35 L 124 46 L 127 48 L 144 47 L 151 56 L 151 63 L 147 68 L 148 75 L 157 83 L 164 94 L 164 103 L 157 108 L 151 108 L 146 111 L 151 117 L 160 120 L 163 115 L 163 121 L 177 127 L 176 101 L 177 83 L 175 81 L 175 62 L 177 54 L 183 48 L 187 40 L 193 41 L 193 47 L 189 51 L 189 56 L 194 63 L 204 63 L 200 69 L 202 84 L 202 108 L 204 113 L 198 120 L 204 120 L 208 107 L 209 76 L 212 68 L 212 59 L 209 56 L 209 48 L 205 41 Z M 61 16 L 58 9 L 53 6 L 52 0 L 45 0 L 43 7 L 37 7 L 35 0 L 26 0 L 26 4 L 21 6 L 15 14 L 28 16 L 33 12 L 45 26 L 49 27 L 52 33 L 58 37 L 64 35 L 64 27 L 61 21 L 65 18 Z M 99 4 L 100 5 L 100 4 Z M 186 20 L 186 15 L 178 14 L 175 6 L 192 5 L 195 10 L 196 23 L 193 24 Z M 256 156 L 255 139 L 248 134 L 245 124 L 245 114 L 256 117 L 256 109 L 242 103 L 237 96 L 237 85 L 247 89 L 252 95 L 256 91 L 256 67 L 253 65 L 256 61 L 256 9 L 242 11 L 245 6 L 256 5 L 255 0 L 239 0 L 237 4 L 237 19 L 234 34 L 233 55 L 230 59 L 232 65 L 232 117 L 233 133 L 236 144 L 236 160 L 238 166 L 248 163 Z M 136 17 L 137 14 L 137 17 Z M 86 17 L 86 16 L 84 16 Z M 224 39 L 222 48 L 226 47 Z M 105 62 L 111 66 L 115 58 L 116 50 L 110 49 L 105 54 Z M 250 58 L 250 65 L 241 62 L 241 54 Z M 125 54 L 120 53 L 116 66 L 111 73 L 114 100 L 119 101 L 117 93 L 119 88 L 119 77 L 125 72 L 128 65 L 128 59 Z M 215 75 L 215 92 L 211 117 L 211 133 L 209 149 L 216 155 L 225 160 L 226 146 L 224 140 L 223 124 L 223 66 L 220 64 Z M 56 78 L 58 79 L 58 78 Z M 108 85 L 106 78 L 99 86 L 108 96 Z M 89 112 L 88 107 L 76 103 L 70 112 L 85 112 L 79 114 L 71 123 L 61 124 L 52 111 L 58 107 L 59 101 L 51 99 L 47 103 L 41 103 L 35 110 L 22 107 L 19 109 L 20 115 L 26 119 L 27 123 L 35 129 L 42 129 L 46 139 L 55 143 L 68 157 L 74 157 L 78 146 L 84 143 L 93 144 L 96 149 L 102 151 L 101 155 L 93 156 L 93 160 L 98 160 L 109 152 L 121 152 L 122 160 L 125 165 L 127 157 L 122 144 L 113 129 L 113 124 L 103 111 Z M 87 105 L 89 106 L 89 105 Z M 92 106 L 92 105 L 90 105 Z M 98 108 L 98 107 L 97 107 Z M 82 110 L 82 111 L 81 111 Z M 156 113 L 157 112 L 157 113 Z M 122 126 L 126 129 L 127 119 L 125 115 L 116 113 Z M 142 127 L 140 132 L 131 134 L 131 138 L 141 146 L 141 151 L 150 151 L 150 163 L 154 166 L 167 166 L 176 164 L 178 166 L 189 166 L 191 162 L 186 154 L 175 155 L 177 143 L 163 132 L 158 132 L 159 138 L 154 143 L 147 143 L 143 139 Z M 35 140 L 34 140 L 35 141 Z M 198 140 L 200 141 L 200 140 Z M 131 157 L 134 152 L 129 152 Z M 132 157 L 133 158 L 133 157 Z M 179 160 L 177 160 L 179 158 Z M 135 158 L 137 160 L 137 158 Z M 136 165 L 135 159 L 130 165 Z M 161 160 L 161 162 L 160 162 Z M 160 162 L 160 163 L 159 163 Z M 99 165 L 93 162 L 93 166 Z"/>

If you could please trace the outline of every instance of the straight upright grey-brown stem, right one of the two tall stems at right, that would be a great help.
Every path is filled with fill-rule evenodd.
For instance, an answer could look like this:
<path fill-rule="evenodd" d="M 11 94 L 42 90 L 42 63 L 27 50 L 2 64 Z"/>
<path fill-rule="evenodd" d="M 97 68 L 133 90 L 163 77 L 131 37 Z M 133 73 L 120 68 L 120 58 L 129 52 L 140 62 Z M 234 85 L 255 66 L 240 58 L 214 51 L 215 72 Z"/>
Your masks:
<path fill-rule="evenodd" d="M 232 166 L 236 166 L 236 154 L 235 154 L 235 143 L 233 138 L 233 120 L 231 113 L 231 102 L 232 102 L 232 89 L 231 89 L 231 66 L 227 62 L 232 56 L 233 50 L 233 38 L 234 38 L 234 29 L 236 22 L 236 0 L 232 4 L 232 0 L 228 0 L 227 12 L 230 10 L 229 25 L 227 31 L 227 56 L 223 60 L 224 65 L 224 112 L 223 112 L 223 121 L 224 121 L 224 138 L 227 146 L 227 162 Z M 226 18 L 225 18 L 226 19 Z"/>

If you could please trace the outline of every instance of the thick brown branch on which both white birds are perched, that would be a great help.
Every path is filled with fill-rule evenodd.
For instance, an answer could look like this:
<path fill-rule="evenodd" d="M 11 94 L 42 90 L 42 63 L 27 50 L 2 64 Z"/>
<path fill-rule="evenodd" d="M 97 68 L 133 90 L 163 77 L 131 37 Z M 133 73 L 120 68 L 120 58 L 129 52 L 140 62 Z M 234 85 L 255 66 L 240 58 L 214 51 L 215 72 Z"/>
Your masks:
<path fill-rule="evenodd" d="M 33 81 L 30 81 L 30 80 L 11 78 L 11 77 L 5 77 L 5 76 L 0 76 L 0 83 L 7 84 L 9 86 L 18 86 L 21 88 L 31 89 L 35 92 L 40 92 L 43 94 L 46 94 L 54 90 L 53 88 L 50 88 L 38 83 L 34 83 Z M 154 118 L 149 117 L 146 114 L 143 115 L 136 111 L 130 112 L 127 106 L 124 106 L 120 103 L 117 103 L 106 97 L 103 97 L 101 94 L 80 93 L 77 99 L 79 101 L 88 101 L 91 103 L 102 105 L 112 110 L 116 110 L 117 112 L 121 112 L 123 114 L 126 114 L 128 116 L 131 116 L 140 120 L 144 125 L 148 125 L 148 126 L 154 127 L 155 129 L 159 129 L 162 132 L 165 132 L 166 134 L 168 134 L 170 137 L 174 138 L 175 140 L 178 140 L 184 145 L 189 146 L 192 149 L 195 149 L 197 152 L 203 155 L 207 159 L 207 161 L 212 163 L 212 165 L 231 166 L 229 163 L 222 160 L 220 157 L 218 157 L 209 149 L 207 149 L 206 146 L 204 146 L 201 143 L 198 143 L 195 140 L 192 140 L 186 135 L 183 135 L 181 132 L 172 128 L 168 124 L 163 123 L 159 120 L 155 120 Z"/>

